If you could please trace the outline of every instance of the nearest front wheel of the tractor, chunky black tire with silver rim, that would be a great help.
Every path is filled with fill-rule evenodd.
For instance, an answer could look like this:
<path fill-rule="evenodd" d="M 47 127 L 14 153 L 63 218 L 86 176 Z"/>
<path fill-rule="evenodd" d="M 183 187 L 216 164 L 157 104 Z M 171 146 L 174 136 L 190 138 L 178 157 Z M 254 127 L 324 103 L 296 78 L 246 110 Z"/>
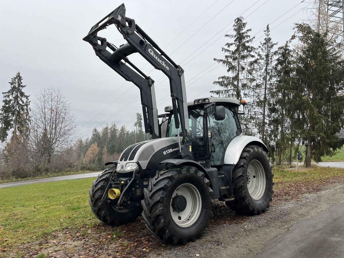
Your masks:
<path fill-rule="evenodd" d="M 147 228 L 164 242 L 195 241 L 213 216 L 209 184 L 204 173 L 194 167 L 158 171 L 144 189 L 141 202 Z"/>

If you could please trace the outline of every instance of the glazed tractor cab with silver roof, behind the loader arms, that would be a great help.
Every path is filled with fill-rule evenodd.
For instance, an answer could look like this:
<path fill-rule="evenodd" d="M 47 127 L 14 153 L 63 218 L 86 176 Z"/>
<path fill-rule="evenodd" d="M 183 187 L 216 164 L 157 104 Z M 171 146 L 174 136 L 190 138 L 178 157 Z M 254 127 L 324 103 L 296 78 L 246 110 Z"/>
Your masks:
<path fill-rule="evenodd" d="M 189 128 L 192 134 L 189 150 L 197 162 L 211 161 L 212 166 L 224 164 L 224 154 L 230 141 L 240 135 L 241 127 L 236 108 L 240 101 L 232 98 L 202 98 L 187 103 Z M 172 107 L 165 107 L 167 123 L 165 137 L 181 135 L 174 126 Z M 178 131 L 177 131 L 178 130 Z"/>

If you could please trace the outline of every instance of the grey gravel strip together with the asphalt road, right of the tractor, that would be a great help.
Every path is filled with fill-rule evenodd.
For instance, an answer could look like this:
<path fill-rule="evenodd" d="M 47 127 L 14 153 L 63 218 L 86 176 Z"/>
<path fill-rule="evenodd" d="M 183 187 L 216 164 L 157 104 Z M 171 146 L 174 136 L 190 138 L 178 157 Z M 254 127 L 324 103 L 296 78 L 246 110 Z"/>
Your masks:
<path fill-rule="evenodd" d="M 241 225 L 207 230 L 189 246 L 166 246 L 151 257 L 343 257 L 344 184 L 334 184 L 300 201 L 272 206 Z"/>

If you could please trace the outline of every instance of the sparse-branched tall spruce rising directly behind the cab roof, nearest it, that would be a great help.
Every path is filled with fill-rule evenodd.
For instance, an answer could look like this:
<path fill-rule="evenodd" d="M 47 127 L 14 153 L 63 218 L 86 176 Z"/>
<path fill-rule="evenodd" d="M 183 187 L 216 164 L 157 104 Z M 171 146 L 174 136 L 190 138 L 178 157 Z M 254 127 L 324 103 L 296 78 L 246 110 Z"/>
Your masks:
<path fill-rule="evenodd" d="M 225 35 L 234 41 L 222 47 L 224 59 L 214 58 L 214 61 L 226 67 L 229 75 L 218 77 L 213 83 L 222 89 L 213 90 L 211 93 L 236 99 L 250 95 L 250 84 L 254 82 L 252 75 L 257 61 L 254 55 L 255 47 L 250 46 L 254 37 L 248 34 L 251 29 L 245 30 L 246 24 L 243 17 L 236 18 L 233 25 L 235 34 Z"/>

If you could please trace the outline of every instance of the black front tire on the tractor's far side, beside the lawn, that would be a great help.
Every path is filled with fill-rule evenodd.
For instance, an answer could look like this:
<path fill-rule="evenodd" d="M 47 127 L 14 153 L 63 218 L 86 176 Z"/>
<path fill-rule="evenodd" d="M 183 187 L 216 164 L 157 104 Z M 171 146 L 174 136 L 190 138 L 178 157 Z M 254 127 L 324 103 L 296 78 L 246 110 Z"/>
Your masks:
<path fill-rule="evenodd" d="M 101 201 L 113 172 L 114 169 L 105 170 L 93 181 L 92 189 L 89 190 L 89 204 L 93 214 L 101 222 L 110 226 L 118 226 L 135 221 L 141 215 L 142 210 L 129 211 L 127 209 L 118 209 Z"/>

